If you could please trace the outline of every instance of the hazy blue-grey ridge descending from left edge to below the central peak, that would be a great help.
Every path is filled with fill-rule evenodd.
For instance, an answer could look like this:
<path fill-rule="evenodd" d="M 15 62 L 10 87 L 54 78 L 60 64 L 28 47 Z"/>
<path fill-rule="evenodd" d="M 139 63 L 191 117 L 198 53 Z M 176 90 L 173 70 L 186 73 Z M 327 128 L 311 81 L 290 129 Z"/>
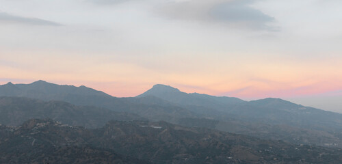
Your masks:
<path fill-rule="evenodd" d="M 102 107 L 118 112 L 135 113 L 150 120 L 176 122 L 179 118 L 194 117 L 196 113 L 170 105 L 160 98 L 116 98 L 91 88 L 56 85 L 46 81 L 29 84 L 0 85 L 0 96 L 18 96 L 40 100 L 58 100 L 73 105 Z"/>

